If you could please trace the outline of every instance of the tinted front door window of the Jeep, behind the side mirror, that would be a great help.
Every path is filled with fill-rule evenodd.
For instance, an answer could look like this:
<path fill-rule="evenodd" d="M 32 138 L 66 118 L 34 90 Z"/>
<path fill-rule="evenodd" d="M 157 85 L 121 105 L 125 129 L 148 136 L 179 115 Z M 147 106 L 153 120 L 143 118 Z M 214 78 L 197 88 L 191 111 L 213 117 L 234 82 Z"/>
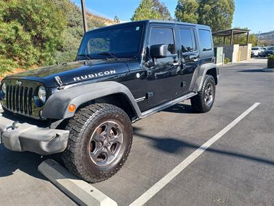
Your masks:
<path fill-rule="evenodd" d="M 176 53 L 173 30 L 171 28 L 153 27 L 149 38 L 149 46 L 162 44 L 167 45 L 168 56 Z"/>

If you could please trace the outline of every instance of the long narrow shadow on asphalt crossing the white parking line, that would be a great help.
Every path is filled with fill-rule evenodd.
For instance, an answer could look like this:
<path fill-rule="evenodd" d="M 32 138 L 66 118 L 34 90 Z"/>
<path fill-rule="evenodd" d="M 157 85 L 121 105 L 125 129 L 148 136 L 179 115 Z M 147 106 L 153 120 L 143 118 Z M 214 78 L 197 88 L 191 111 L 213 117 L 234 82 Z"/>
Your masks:
<path fill-rule="evenodd" d="M 181 139 L 179 140 L 179 139 L 176 139 L 175 137 L 161 138 L 161 137 L 153 137 L 153 136 L 149 136 L 149 135 L 144 135 L 144 134 L 140 133 L 140 130 L 141 130 L 140 128 L 134 127 L 134 135 L 141 137 L 141 138 L 149 139 L 154 148 L 156 148 L 158 150 L 162 150 L 164 152 L 176 154 L 177 152 L 179 152 L 180 150 L 183 150 L 184 148 L 194 148 L 194 149 L 200 148 L 200 146 L 197 144 L 192 144 L 190 142 L 187 142 L 187 141 L 184 141 Z M 257 161 L 258 163 L 274 165 L 273 160 L 264 159 L 261 157 L 255 157 L 255 156 L 251 156 L 251 155 L 245 155 L 245 154 L 242 154 L 239 152 L 218 150 L 218 149 L 214 149 L 214 148 L 208 148 L 207 151 L 214 152 L 219 155 L 228 155 L 228 156 L 235 157 L 235 158 L 247 159 L 249 161 Z"/>

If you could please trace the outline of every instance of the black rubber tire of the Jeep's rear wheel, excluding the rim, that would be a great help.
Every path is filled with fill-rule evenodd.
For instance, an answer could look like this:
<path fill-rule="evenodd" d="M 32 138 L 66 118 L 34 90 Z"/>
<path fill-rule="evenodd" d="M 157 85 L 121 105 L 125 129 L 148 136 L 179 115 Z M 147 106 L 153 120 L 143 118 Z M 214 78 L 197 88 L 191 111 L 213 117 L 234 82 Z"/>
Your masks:
<path fill-rule="evenodd" d="M 208 84 L 212 84 L 212 95 L 213 95 L 213 100 L 212 104 L 207 105 L 205 101 L 205 95 L 206 95 L 206 87 Z M 197 113 L 206 113 L 210 111 L 214 104 L 215 100 L 215 80 L 212 76 L 206 75 L 206 78 L 203 80 L 203 86 L 201 87 L 201 91 L 198 92 L 197 95 L 194 97 L 190 98 L 191 106 L 194 111 Z"/>

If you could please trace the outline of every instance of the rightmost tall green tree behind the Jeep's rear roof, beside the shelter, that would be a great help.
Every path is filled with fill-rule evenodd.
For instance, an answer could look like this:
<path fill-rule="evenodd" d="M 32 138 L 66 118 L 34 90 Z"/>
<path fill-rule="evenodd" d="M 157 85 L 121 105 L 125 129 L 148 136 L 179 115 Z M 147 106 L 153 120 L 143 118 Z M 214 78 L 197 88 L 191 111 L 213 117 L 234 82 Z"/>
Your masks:
<path fill-rule="evenodd" d="M 213 32 L 231 28 L 234 0 L 199 0 L 198 23 L 209 25 Z"/>

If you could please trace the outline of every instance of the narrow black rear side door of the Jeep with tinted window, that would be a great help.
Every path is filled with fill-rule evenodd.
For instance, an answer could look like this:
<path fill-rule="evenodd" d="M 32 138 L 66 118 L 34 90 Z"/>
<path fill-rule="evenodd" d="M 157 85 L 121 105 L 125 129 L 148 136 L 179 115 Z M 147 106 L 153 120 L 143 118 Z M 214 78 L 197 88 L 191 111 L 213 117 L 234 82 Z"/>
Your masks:
<path fill-rule="evenodd" d="M 182 90 L 183 94 L 186 94 L 192 89 L 191 82 L 195 82 L 194 74 L 199 69 L 199 53 L 194 27 L 180 27 L 179 36 L 182 55 Z"/>

